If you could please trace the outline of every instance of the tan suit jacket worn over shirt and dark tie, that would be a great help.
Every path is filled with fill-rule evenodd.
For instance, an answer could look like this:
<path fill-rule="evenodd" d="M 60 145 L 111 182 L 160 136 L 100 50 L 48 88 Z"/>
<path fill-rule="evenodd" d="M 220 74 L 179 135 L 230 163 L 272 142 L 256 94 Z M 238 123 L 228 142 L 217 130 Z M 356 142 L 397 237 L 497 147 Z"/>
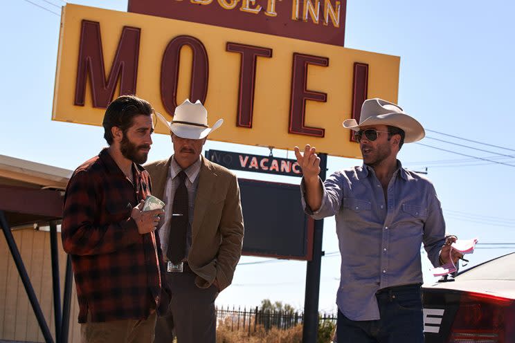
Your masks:
<path fill-rule="evenodd" d="M 171 159 L 145 165 L 152 179 L 152 195 L 160 199 L 164 198 Z M 201 156 L 191 231 L 188 265 L 197 274 L 195 284 L 208 288 L 216 277 L 223 290 L 233 281 L 242 254 L 244 228 L 240 187 L 233 172 L 204 156 Z"/>

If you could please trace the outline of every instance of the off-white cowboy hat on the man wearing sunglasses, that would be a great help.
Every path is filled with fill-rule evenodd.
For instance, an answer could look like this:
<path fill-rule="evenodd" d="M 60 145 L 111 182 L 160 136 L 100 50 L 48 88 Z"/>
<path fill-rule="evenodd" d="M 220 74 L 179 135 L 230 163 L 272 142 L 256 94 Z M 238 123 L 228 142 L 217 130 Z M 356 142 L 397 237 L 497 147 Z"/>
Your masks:
<path fill-rule="evenodd" d="M 361 127 L 368 125 L 390 125 L 404 130 L 406 137 L 404 142 L 417 142 L 426 136 L 424 127 L 402 111 L 402 109 L 386 100 L 379 98 L 368 99 L 361 106 L 359 124 L 354 119 L 347 119 L 343 122 L 345 129 L 359 131 Z"/>

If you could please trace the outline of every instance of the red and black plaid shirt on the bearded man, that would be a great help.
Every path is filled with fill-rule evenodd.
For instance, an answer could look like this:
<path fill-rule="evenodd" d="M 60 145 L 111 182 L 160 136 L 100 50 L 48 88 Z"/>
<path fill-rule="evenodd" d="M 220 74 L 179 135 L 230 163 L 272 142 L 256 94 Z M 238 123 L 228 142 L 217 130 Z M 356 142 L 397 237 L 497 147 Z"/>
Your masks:
<path fill-rule="evenodd" d="M 159 235 L 139 234 L 131 218 L 151 192 L 150 176 L 140 165 L 133 174 L 134 185 L 104 149 L 78 167 L 66 187 L 62 245 L 71 255 L 80 323 L 88 312 L 92 322 L 108 322 L 146 318 L 159 308 Z"/>

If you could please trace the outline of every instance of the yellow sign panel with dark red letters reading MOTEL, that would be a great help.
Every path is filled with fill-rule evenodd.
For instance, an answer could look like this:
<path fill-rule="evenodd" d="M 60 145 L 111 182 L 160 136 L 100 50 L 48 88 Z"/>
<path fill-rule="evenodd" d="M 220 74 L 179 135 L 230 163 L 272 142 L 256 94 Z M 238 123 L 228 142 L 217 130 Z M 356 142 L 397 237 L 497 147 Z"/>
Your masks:
<path fill-rule="evenodd" d="M 395 56 L 67 4 L 52 118 L 101 125 L 109 101 L 135 93 L 170 119 L 174 106 L 199 98 L 210 124 L 224 118 L 210 140 L 309 143 L 360 157 L 341 123 L 361 105 L 359 93 L 397 102 L 398 82 Z M 159 123 L 156 132 L 168 128 Z"/>

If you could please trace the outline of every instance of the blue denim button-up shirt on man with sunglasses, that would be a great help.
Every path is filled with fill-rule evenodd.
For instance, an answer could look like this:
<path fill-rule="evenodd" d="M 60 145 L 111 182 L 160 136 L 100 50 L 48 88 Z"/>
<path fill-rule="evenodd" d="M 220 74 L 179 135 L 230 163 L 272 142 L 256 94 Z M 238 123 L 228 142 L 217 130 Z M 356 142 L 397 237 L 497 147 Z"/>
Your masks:
<path fill-rule="evenodd" d="M 314 219 L 335 216 L 341 253 L 341 280 L 336 304 L 352 320 L 379 319 L 375 293 L 381 288 L 422 284 L 420 246 L 433 266 L 444 245 L 445 222 L 433 184 L 401 167 L 387 196 L 367 165 L 346 169 L 323 183 L 322 206 Z"/>

